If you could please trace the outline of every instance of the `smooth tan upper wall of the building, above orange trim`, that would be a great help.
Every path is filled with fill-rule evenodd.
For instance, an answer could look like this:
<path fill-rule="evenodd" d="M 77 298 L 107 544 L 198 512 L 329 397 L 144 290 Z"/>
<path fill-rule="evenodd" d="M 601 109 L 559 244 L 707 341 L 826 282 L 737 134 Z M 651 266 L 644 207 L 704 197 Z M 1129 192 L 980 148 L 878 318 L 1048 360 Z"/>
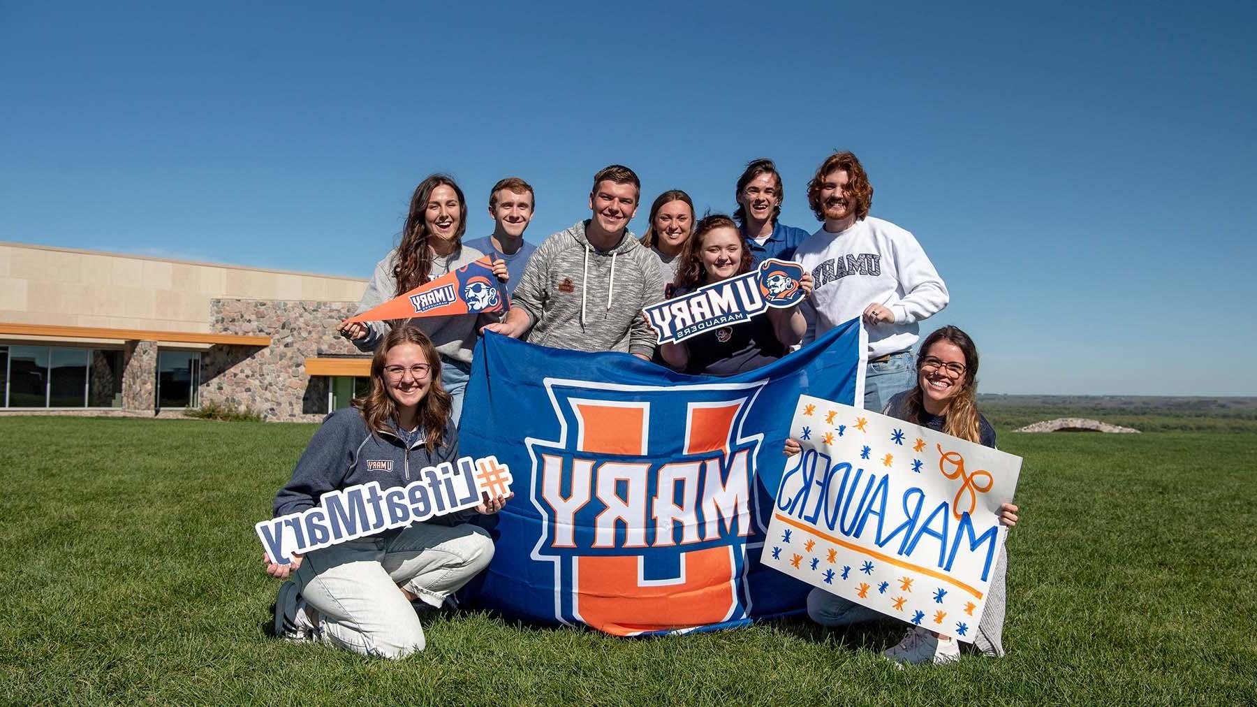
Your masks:
<path fill-rule="evenodd" d="M 0 243 L 0 322 L 211 328 L 210 301 L 357 302 L 365 279 Z"/>

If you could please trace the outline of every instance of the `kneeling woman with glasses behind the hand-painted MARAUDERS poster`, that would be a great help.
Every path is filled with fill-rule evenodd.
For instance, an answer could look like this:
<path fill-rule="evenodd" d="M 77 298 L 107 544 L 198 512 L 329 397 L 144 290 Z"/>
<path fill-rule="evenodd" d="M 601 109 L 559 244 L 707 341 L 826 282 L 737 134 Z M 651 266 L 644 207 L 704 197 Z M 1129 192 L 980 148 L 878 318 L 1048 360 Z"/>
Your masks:
<path fill-rule="evenodd" d="M 969 335 L 947 326 L 925 337 L 916 357 L 916 385 L 890 399 L 884 415 L 930 428 L 952 437 L 996 447 L 996 430 L 978 413 L 978 348 Z M 786 454 L 798 454 L 797 440 L 786 440 Z M 1001 525 L 1017 525 L 1017 506 L 999 507 Z M 982 613 L 973 645 L 985 655 L 1004 654 L 1004 575 L 1008 556 L 1004 545 L 991 577 L 987 608 Z M 807 595 L 807 615 L 826 626 L 843 626 L 882 618 L 882 614 L 822 589 Z M 950 663 L 960 657 L 955 639 L 924 626 L 914 626 L 904 640 L 884 655 L 896 663 Z"/>

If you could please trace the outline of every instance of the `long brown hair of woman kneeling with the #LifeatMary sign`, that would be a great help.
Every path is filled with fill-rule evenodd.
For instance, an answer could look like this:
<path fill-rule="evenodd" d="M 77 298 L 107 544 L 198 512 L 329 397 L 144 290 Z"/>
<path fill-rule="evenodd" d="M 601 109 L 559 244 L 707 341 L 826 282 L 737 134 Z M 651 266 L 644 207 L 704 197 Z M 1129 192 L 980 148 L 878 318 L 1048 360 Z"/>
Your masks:
<path fill-rule="evenodd" d="M 353 406 L 362 413 L 362 419 L 367 421 L 367 428 L 372 433 L 393 434 L 390 423 L 397 419 L 397 404 L 388 395 L 388 384 L 385 380 L 385 361 L 388 351 L 401 343 L 414 343 L 424 351 L 424 359 L 431 366 L 427 371 L 427 395 L 419 403 L 419 429 L 424 431 L 424 444 L 431 453 L 445 442 L 445 424 L 450 419 L 453 401 L 450 394 L 441 386 L 441 355 L 432 346 L 432 340 L 419 328 L 402 325 L 393 327 L 385 336 L 376 348 L 376 355 L 371 359 L 371 392 L 362 398 L 353 399 Z"/>

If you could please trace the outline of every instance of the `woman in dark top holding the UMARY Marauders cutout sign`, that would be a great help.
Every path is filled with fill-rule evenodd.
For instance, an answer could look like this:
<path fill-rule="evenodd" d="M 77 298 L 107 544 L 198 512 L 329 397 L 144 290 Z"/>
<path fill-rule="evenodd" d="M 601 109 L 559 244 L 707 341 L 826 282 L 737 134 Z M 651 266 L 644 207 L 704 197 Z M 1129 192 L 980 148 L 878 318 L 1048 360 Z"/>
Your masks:
<path fill-rule="evenodd" d="M 752 255 L 738 224 L 724 214 L 704 216 L 685 243 L 676 272 L 676 296 L 750 272 Z M 812 276 L 798 282 L 804 298 Z M 732 376 L 771 364 L 803 338 L 807 322 L 798 306 L 769 308 L 750 321 L 705 330 L 679 342 L 660 345 L 669 366 L 686 374 Z"/>

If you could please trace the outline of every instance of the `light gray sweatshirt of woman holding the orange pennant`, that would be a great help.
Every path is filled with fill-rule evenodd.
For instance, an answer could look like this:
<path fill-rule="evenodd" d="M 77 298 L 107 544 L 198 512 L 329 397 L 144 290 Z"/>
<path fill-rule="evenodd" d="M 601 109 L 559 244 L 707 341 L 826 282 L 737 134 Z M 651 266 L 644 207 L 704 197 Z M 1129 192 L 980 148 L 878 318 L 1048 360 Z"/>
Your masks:
<path fill-rule="evenodd" d="M 429 272 L 427 277 L 436 279 L 483 257 L 484 253 L 466 245 L 449 255 L 434 255 L 431 272 Z M 361 315 L 372 307 L 378 307 L 397 297 L 397 281 L 392 277 L 396 258 L 397 249 L 393 248 L 385 255 L 383 260 L 376 263 L 376 272 L 367 284 L 367 291 L 362 293 L 362 299 L 358 301 L 358 308 L 354 311 L 354 315 Z M 479 315 L 416 317 L 410 320 L 410 323 L 424 330 L 424 333 L 432 340 L 432 345 L 436 346 L 436 351 L 440 352 L 441 357 L 470 365 L 476 332 L 480 331 L 478 325 L 497 321 L 495 318 L 485 318 L 483 322 L 478 322 L 479 317 Z M 354 341 L 353 345 L 360 351 L 375 351 L 376 345 L 388 333 L 390 328 L 388 322 L 367 322 L 367 337 Z"/>

